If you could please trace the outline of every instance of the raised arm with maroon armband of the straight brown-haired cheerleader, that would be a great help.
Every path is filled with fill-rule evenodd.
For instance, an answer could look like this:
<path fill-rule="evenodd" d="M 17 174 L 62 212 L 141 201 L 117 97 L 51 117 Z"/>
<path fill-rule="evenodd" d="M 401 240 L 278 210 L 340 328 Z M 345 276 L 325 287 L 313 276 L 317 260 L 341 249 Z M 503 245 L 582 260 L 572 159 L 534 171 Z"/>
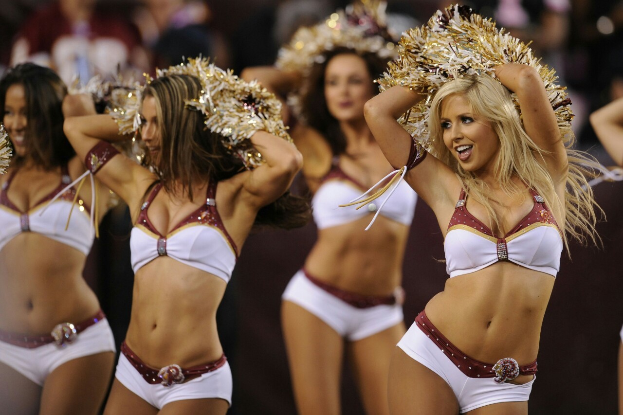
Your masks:
<path fill-rule="evenodd" d="M 88 105 L 93 104 L 85 95 L 68 95 L 63 102 L 64 110 L 68 112 L 79 112 L 80 107 Z M 128 140 L 128 136 L 119 135 L 117 123 L 110 115 L 65 118 L 64 130 L 81 160 L 85 160 L 87 155 L 90 156 L 96 146 L 107 152 L 106 163 L 96 171 L 97 178 L 117 193 L 130 206 L 131 211 L 136 211 L 135 208 L 141 203 L 143 194 L 156 180 L 156 176 L 125 156 L 118 155 L 108 144 Z M 89 163 L 85 164 L 90 168 Z"/>

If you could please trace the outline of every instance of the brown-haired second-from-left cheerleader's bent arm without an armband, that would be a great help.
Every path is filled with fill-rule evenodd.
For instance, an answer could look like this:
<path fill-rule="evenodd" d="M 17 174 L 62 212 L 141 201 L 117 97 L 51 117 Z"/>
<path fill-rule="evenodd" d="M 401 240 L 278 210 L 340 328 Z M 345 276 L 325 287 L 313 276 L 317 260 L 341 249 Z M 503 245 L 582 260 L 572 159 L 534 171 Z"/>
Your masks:
<path fill-rule="evenodd" d="M 265 163 L 240 174 L 244 180 L 240 196 L 257 211 L 285 193 L 301 169 L 303 157 L 292 143 L 265 131 L 257 131 L 251 142 Z"/>

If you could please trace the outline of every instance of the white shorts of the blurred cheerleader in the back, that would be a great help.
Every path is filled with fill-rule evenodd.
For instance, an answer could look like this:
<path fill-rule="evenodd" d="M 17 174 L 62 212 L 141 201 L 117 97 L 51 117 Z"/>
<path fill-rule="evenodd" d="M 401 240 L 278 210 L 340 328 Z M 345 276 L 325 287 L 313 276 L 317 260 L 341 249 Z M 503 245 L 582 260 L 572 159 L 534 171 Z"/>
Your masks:
<path fill-rule="evenodd" d="M 282 299 L 305 308 L 350 341 L 383 332 L 404 320 L 401 304 L 353 307 L 313 284 L 303 270 L 294 274 Z"/>

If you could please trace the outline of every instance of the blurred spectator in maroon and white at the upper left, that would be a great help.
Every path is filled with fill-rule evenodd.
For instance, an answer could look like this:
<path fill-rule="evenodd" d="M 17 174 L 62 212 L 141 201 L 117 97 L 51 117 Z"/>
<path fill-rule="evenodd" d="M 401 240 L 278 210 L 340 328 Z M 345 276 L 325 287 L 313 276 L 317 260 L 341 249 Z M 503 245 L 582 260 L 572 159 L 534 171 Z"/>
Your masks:
<path fill-rule="evenodd" d="M 96 12 L 96 0 L 55 0 L 38 9 L 13 44 L 11 65 L 36 62 L 55 69 L 65 82 L 86 82 L 134 67 L 148 70 L 138 31 L 113 12 Z"/>

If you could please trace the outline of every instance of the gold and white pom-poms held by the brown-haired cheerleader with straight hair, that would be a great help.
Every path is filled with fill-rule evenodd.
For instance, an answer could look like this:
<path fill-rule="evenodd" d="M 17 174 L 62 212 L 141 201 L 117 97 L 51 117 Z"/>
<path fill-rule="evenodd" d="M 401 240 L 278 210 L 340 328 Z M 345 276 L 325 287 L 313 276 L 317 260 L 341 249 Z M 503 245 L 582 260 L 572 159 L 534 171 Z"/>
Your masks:
<path fill-rule="evenodd" d="M 262 155 L 249 138 L 256 131 L 267 131 L 292 142 L 283 125 L 281 102 L 259 83 L 244 82 L 231 70 L 223 70 L 207 58 L 189 58 L 187 62 L 156 70 L 156 78 L 192 75 L 201 82 L 201 96 L 188 100 L 186 108 L 201 112 L 206 128 L 222 137 L 222 144 L 244 163 L 245 168 L 259 166 Z M 147 83 L 151 78 L 147 78 Z M 109 112 L 123 134 L 140 128 L 138 110 L 143 88 L 124 88 L 112 95 Z"/>

